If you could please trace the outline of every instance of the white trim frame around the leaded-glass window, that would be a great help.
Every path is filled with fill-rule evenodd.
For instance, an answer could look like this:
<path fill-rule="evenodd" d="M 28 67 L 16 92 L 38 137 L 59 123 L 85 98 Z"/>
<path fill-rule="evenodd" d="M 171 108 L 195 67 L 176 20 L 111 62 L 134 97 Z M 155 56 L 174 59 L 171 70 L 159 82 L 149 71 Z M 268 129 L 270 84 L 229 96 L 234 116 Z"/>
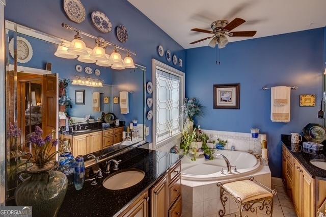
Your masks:
<path fill-rule="evenodd" d="M 170 137 L 166 140 L 162 140 L 158 143 L 156 143 L 156 69 L 159 69 L 161 71 L 168 72 L 170 74 L 173 74 L 175 76 L 180 77 L 180 84 L 181 84 L 181 100 L 180 100 L 180 107 L 183 103 L 183 99 L 185 97 L 185 85 L 184 85 L 184 80 L 185 80 L 185 74 L 184 72 L 175 69 L 167 64 L 161 63 L 158 60 L 152 59 L 152 83 L 153 83 L 153 143 L 151 149 L 157 149 L 161 146 L 164 146 L 174 140 L 177 140 L 181 138 L 182 132 L 179 132 L 173 137 Z M 183 123 L 183 120 L 182 120 Z"/>

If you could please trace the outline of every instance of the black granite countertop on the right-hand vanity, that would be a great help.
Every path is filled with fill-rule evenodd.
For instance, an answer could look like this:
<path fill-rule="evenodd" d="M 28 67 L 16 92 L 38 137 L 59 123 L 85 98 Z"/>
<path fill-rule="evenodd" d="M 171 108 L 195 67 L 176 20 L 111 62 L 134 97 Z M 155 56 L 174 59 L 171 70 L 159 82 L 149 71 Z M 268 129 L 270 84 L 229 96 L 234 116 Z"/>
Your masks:
<path fill-rule="evenodd" d="M 304 138 L 303 138 L 304 139 Z M 309 175 L 314 179 L 326 180 L 326 171 L 315 167 L 310 163 L 312 159 L 326 159 L 326 148 L 324 146 L 323 150 L 318 154 L 307 153 L 304 150 L 301 152 L 291 151 L 291 135 L 282 135 L 281 141 L 285 147 L 291 152 L 294 158 L 300 162 L 301 166 L 309 173 Z M 303 141 L 305 142 L 305 141 Z M 300 143 L 302 145 L 302 142 Z"/>

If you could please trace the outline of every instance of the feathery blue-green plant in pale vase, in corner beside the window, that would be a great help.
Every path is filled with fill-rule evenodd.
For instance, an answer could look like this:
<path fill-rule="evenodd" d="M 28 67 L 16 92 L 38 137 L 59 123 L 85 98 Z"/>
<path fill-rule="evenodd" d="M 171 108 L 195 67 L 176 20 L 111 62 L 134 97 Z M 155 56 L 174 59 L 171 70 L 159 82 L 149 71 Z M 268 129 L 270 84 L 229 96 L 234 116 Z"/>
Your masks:
<path fill-rule="evenodd" d="M 188 130 L 188 133 L 191 133 L 194 129 L 194 117 L 204 115 L 204 106 L 196 98 L 185 98 L 181 108 L 183 113 L 184 129 Z"/>

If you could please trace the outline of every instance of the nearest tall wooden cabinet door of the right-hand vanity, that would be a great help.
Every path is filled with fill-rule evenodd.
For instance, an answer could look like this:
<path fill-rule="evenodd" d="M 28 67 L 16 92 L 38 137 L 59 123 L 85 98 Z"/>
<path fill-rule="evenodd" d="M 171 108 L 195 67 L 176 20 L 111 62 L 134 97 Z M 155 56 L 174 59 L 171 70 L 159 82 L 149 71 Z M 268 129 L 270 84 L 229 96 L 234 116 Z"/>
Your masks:
<path fill-rule="evenodd" d="M 302 171 L 302 216 L 315 216 L 315 179 Z"/>

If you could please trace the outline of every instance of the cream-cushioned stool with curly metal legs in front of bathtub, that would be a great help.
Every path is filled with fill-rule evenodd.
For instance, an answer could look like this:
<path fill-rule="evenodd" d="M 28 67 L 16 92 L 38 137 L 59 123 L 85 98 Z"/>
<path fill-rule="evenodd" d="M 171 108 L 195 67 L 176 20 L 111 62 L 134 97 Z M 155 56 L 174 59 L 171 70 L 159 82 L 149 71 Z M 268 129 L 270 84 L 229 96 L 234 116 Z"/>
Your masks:
<path fill-rule="evenodd" d="M 255 212 L 255 205 L 258 205 L 260 210 L 266 207 L 266 214 L 270 216 L 273 214 L 273 196 L 277 191 L 270 189 L 262 183 L 254 180 L 254 177 L 249 179 L 234 181 L 222 184 L 217 184 L 221 187 L 221 202 L 223 209 L 219 210 L 219 215 L 225 215 L 225 204 L 229 195 L 237 204 L 239 209 L 239 216 L 242 216 L 242 211 Z"/>

